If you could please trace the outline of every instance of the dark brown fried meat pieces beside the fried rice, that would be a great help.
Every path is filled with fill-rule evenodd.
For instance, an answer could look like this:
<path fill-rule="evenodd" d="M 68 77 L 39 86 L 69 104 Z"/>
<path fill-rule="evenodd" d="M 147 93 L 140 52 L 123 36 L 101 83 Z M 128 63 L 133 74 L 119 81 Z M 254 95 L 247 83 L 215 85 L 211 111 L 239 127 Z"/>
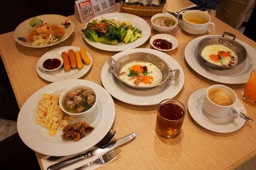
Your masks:
<path fill-rule="evenodd" d="M 63 135 L 61 137 L 63 139 L 70 139 L 73 141 L 78 141 L 85 136 L 86 131 L 92 131 L 94 127 L 87 125 L 87 123 L 79 122 L 72 125 L 65 126 L 62 131 Z"/>

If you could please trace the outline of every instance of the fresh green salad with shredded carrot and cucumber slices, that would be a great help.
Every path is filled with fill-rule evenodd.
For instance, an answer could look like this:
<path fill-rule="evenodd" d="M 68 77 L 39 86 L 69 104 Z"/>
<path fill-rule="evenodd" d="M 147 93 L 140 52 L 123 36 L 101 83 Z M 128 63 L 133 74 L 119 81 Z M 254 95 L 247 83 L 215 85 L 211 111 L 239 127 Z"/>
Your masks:
<path fill-rule="evenodd" d="M 116 44 L 118 42 L 134 42 L 140 37 L 143 37 L 140 29 L 135 29 L 131 22 L 116 22 L 114 20 L 107 20 L 102 18 L 99 20 L 92 20 L 87 24 L 87 27 L 82 30 L 84 37 L 96 41 L 105 42 L 108 44 Z"/>

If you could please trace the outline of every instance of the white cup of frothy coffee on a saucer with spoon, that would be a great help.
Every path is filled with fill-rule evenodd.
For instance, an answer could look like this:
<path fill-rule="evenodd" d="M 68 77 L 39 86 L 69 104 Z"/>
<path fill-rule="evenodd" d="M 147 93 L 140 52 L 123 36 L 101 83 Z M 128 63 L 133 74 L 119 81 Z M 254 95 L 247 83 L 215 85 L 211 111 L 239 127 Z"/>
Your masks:
<path fill-rule="evenodd" d="M 236 93 L 224 85 L 212 85 L 205 94 L 203 101 L 204 110 L 213 117 L 224 118 L 233 114 L 234 119 L 240 115 L 240 110 L 236 107 Z"/>

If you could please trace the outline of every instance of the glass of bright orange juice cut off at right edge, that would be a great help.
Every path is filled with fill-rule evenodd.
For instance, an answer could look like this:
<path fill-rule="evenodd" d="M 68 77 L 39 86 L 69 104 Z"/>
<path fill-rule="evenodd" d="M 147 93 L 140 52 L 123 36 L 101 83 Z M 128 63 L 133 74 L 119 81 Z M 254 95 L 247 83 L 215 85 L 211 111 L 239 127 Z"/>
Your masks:
<path fill-rule="evenodd" d="M 256 105 L 256 70 L 253 70 L 242 92 L 242 99 L 249 105 Z"/>

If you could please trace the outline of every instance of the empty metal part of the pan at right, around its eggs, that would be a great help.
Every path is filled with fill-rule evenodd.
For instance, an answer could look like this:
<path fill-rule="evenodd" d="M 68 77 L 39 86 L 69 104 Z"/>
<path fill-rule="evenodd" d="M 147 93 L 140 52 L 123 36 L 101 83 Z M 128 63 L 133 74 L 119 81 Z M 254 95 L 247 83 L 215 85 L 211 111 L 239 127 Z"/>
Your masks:
<path fill-rule="evenodd" d="M 233 40 L 231 40 L 230 38 L 225 37 L 225 35 L 233 37 Z M 212 68 L 216 68 L 216 69 L 220 69 L 220 70 L 227 70 L 227 69 L 230 69 L 230 68 L 234 68 L 234 67 L 242 64 L 247 59 L 246 49 L 239 42 L 235 41 L 235 39 L 236 39 L 236 35 L 231 34 L 229 32 L 224 32 L 222 37 L 218 37 L 218 36 L 206 37 L 198 43 L 198 53 L 199 53 L 200 57 L 202 59 L 204 59 L 204 61 L 206 62 L 206 65 L 208 65 Z M 208 45 L 224 45 L 225 47 L 230 48 L 231 50 L 233 50 L 237 54 L 239 62 L 236 65 L 229 66 L 229 67 L 222 67 L 220 65 L 215 65 L 211 62 L 208 62 L 207 59 L 205 59 L 201 55 L 201 52 L 204 49 L 204 47 L 206 47 Z"/>

